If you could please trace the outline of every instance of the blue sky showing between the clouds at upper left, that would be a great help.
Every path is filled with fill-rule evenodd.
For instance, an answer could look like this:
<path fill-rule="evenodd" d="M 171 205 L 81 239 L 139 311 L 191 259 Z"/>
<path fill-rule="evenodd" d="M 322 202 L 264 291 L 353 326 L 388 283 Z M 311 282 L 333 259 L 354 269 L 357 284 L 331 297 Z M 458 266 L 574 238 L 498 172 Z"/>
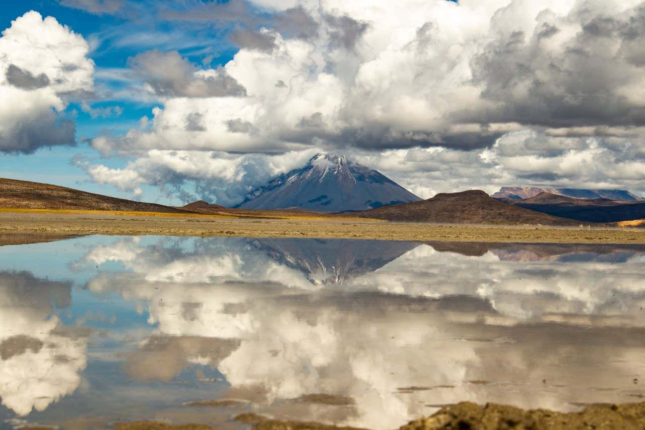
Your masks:
<path fill-rule="evenodd" d="M 226 64 L 237 52 L 238 48 L 227 39 L 225 28 L 159 21 L 152 12 L 152 3 L 161 5 L 163 2 L 135 2 L 141 15 L 128 18 L 112 14 L 94 14 L 83 9 L 63 6 L 55 0 L 6 2 L 0 8 L 0 28 L 10 27 L 14 19 L 30 10 L 39 12 L 43 17 L 55 17 L 61 25 L 70 27 L 75 33 L 90 41 L 92 50 L 89 57 L 95 62 L 97 71 L 95 81 L 97 85 L 114 91 L 126 88 L 128 83 L 108 77 L 102 78 L 101 72 L 127 68 L 128 58 L 144 50 L 177 50 L 190 61 L 210 67 Z M 190 3 L 198 2 L 174 3 L 177 8 L 183 9 L 190 8 Z M 150 12 L 146 14 L 146 10 Z M 208 63 L 204 63 L 204 59 L 208 60 Z M 130 128 L 137 127 L 142 117 L 151 116 L 152 108 L 158 105 L 157 101 L 132 101 L 127 98 L 95 101 L 92 103 L 94 109 L 120 107 L 123 111 L 118 116 L 113 114 L 93 118 L 88 112 L 84 112 L 80 103 L 71 102 L 64 116 L 75 121 L 75 145 L 43 147 L 34 154 L 0 152 L 0 177 L 54 183 L 132 198 L 130 192 L 91 181 L 82 169 L 74 166 L 73 160 L 79 157 L 88 160 L 99 159 L 97 152 L 88 145 L 88 139 L 99 135 L 124 134 Z M 101 163 L 110 167 L 122 167 L 128 160 L 129 158 L 103 158 Z M 143 185 L 143 188 L 146 190 L 147 200 L 168 203 L 168 196 L 159 194 L 154 187 Z"/>

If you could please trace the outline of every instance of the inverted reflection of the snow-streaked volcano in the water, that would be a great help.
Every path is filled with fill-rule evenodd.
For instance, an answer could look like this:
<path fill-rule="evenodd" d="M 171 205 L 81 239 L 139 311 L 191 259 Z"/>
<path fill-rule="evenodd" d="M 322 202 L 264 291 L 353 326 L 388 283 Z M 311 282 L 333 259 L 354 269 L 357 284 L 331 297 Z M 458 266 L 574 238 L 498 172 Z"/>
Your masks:
<path fill-rule="evenodd" d="M 373 272 L 419 243 L 346 239 L 252 239 L 273 260 L 306 273 L 315 284 L 342 283 L 348 276 Z"/>

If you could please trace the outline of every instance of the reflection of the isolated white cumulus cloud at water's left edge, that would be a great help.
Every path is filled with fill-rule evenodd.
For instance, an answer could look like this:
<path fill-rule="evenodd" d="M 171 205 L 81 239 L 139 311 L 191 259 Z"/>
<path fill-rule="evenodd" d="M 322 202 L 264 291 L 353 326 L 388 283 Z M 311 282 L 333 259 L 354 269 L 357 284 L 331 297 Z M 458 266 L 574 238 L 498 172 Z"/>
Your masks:
<path fill-rule="evenodd" d="M 17 415 L 43 411 L 77 389 L 86 340 L 52 316 L 52 302 L 68 307 L 71 282 L 0 272 L 0 398 Z"/>

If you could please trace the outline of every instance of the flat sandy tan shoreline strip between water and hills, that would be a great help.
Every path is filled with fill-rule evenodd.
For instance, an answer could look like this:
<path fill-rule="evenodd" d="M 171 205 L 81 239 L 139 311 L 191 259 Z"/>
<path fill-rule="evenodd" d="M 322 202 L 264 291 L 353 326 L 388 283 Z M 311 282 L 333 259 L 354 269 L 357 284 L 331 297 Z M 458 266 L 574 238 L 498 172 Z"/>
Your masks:
<path fill-rule="evenodd" d="M 507 243 L 645 243 L 643 229 L 571 229 L 422 225 L 355 220 L 258 220 L 221 217 L 121 216 L 117 214 L 0 214 L 0 245 L 73 236 L 244 236 Z M 30 237 L 32 239 L 30 239 Z"/>

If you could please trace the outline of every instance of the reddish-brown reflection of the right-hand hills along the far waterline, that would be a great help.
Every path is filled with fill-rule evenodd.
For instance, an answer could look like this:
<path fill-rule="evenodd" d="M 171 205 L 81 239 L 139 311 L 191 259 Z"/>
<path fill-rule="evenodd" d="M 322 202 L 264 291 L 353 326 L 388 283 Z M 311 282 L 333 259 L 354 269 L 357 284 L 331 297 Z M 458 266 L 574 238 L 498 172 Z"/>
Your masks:
<path fill-rule="evenodd" d="M 570 243 L 426 242 L 439 252 L 482 256 L 492 252 L 502 261 L 570 261 L 624 263 L 645 254 L 645 245 Z"/>

